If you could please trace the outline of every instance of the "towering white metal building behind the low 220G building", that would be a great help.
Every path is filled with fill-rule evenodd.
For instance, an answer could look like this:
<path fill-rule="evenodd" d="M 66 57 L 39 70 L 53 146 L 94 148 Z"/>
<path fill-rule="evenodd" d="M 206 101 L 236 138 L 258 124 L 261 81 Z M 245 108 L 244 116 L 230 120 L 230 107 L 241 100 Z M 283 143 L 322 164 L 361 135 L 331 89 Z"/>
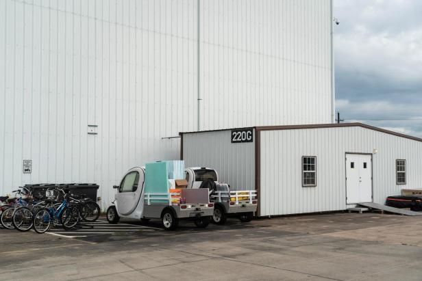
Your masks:
<path fill-rule="evenodd" d="M 179 158 L 180 131 L 333 121 L 330 0 L 0 1 L 0 193 Z M 23 165 L 25 164 L 25 165 Z"/>

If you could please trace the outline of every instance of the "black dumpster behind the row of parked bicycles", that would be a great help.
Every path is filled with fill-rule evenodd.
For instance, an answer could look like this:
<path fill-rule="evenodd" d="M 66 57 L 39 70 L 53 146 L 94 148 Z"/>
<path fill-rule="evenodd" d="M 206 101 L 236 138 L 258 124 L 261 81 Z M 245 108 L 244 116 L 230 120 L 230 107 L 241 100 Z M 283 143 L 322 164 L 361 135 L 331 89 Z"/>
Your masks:
<path fill-rule="evenodd" d="M 97 191 L 99 185 L 95 183 L 39 183 L 25 185 L 27 189 L 32 190 L 32 195 L 40 199 L 46 199 L 45 191 L 60 187 L 75 196 L 84 196 L 97 202 Z M 63 199 L 62 193 L 59 193 L 59 200 Z"/>

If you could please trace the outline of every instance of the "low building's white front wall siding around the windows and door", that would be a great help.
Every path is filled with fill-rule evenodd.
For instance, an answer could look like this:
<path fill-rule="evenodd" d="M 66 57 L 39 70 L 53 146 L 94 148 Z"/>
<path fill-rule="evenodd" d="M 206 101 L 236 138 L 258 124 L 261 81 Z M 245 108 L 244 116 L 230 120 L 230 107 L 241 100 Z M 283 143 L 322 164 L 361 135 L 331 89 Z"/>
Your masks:
<path fill-rule="evenodd" d="M 262 131 L 261 215 L 346 209 L 345 153 L 372 153 L 373 201 L 422 188 L 422 142 L 362 127 Z M 316 156 L 316 187 L 301 186 L 301 157 Z M 395 160 L 406 159 L 407 185 L 396 185 Z"/>

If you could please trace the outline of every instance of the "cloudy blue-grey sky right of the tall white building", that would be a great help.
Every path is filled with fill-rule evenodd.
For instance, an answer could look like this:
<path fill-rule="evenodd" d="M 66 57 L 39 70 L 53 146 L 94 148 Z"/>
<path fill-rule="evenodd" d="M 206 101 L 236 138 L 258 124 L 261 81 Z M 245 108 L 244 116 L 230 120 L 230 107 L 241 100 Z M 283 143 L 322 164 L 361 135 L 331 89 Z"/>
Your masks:
<path fill-rule="evenodd" d="M 422 1 L 334 0 L 336 109 L 422 137 Z"/>

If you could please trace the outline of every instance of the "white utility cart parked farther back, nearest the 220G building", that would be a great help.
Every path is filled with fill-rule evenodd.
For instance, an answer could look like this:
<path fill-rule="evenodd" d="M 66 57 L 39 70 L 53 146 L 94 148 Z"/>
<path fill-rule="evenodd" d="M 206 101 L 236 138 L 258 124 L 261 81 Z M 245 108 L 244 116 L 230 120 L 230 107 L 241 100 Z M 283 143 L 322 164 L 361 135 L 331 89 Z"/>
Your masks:
<path fill-rule="evenodd" d="M 214 224 L 225 224 L 227 217 L 238 217 L 240 222 L 250 222 L 253 218 L 258 206 L 256 190 L 230 190 L 227 184 L 219 183 L 219 174 L 212 168 L 186 168 L 185 176 L 188 189 L 211 189 Z M 214 187 L 210 187 L 212 183 L 215 184 Z"/>

